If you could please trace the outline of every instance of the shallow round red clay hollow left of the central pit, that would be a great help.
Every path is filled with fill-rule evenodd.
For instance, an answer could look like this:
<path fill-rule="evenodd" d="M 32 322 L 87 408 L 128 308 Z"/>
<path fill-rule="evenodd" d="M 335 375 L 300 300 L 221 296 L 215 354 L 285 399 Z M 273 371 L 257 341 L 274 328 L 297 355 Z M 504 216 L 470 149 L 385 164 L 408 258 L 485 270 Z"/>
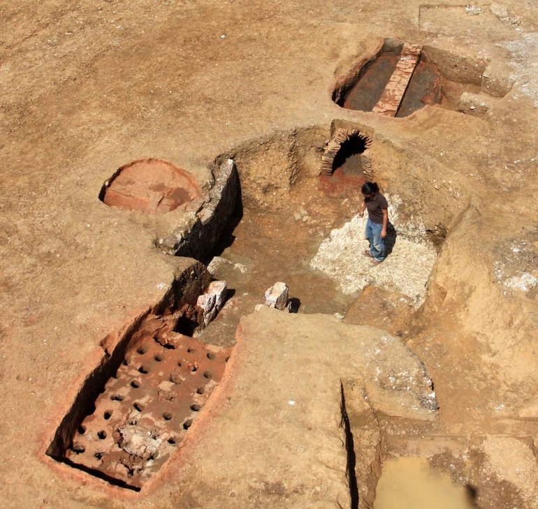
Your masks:
<path fill-rule="evenodd" d="M 186 170 L 161 159 L 139 159 L 122 166 L 101 190 L 109 207 L 166 214 L 200 196 Z"/>

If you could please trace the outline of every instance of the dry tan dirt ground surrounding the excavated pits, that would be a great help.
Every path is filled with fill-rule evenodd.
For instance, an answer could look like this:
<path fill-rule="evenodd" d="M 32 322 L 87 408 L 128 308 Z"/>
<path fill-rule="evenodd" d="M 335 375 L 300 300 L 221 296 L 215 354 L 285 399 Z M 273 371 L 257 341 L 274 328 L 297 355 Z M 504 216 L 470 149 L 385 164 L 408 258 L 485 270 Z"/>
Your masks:
<path fill-rule="evenodd" d="M 363 356 L 350 350 L 385 335 L 424 363 L 439 412 L 413 420 L 391 404 L 374 408 L 384 436 L 378 466 L 391 455 L 428 457 L 474 489 L 481 508 L 537 507 L 538 5 L 481 8 L 0 2 L 3 507 L 354 507 L 345 436 L 360 437 L 361 420 L 345 424 L 340 378 L 363 378 L 360 387 L 375 392 L 368 369 L 351 369 Z M 507 94 L 481 96 L 488 111 L 480 115 L 428 106 L 393 119 L 337 106 L 335 84 L 387 37 L 439 47 L 455 61 L 489 61 L 492 86 Z M 126 492 L 46 456 L 103 338 L 155 306 L 190 263 L 157 249 L 147 216 L 104 205 L 103 182 L 121 165 L 159 157 L 203 186 L 215 157 L 233 155 L 245 218 L 261 221 L 259 232 L 247 222 L 238 232 L 254 244 L 273 230 L 272 242 L 304 248 L 295 258 L 307 265 L 322 235 L 360 205 L 349 198 L 319 230 L 299 230 L 292 218 L 316 204 L 314 163 L 339 120 L 375 133 L 375 176 L 405 204 L 402 222 L 418 217 L 443 233 L 425 302 L 413 307 L 375 287 L 340 298 L 337 279 L 318 287 L 312 272 L 297 276 L 304 295 L 288 281 L 299 316 L 252 312 L 278 275 L 254 260 L 263 282 L 238 280 L 250 300 L 228 310 L 228 335 L 244 317 L 226 380 L 194 438 L 150 485 Z M 303 142 L 312 150 L 289 189 L 278 172 L 288 142 L 280 150 L 277 141 L 310 128 Z M 265 161 L 253 148 L 260 140 L 272 140 Z M 234 249 L 238 261 L 252 254 Z M 293 259 L 284 251 L 281 264 Z M 305 281 L 323 295 L 309 294 Z M 309 320 L 312 311 L 345 314 L 345 323 Z M 358 454 L 359 481 L 363 466 Z M 370 487 L 358 493 L 359 503 L 372 500 Z"/>

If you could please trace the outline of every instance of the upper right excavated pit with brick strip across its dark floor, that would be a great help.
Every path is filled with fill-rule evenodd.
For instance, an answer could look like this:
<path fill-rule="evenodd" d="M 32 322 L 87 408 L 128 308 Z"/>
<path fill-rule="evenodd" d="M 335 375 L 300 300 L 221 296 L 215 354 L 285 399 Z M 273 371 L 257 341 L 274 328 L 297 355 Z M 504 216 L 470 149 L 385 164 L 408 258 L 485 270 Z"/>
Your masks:
<path fill-rule="evenodd" d="M 484 86 L 488 63 L 386 39 L 372 57 L 337 81 L 333 101 L 342 108 L 391 117 L 407 117 L 426 105 L 476 114 L 466 101 L 469 94 L 489 93 Z M 484 110 L 484 103 L 479 104 Z"/>

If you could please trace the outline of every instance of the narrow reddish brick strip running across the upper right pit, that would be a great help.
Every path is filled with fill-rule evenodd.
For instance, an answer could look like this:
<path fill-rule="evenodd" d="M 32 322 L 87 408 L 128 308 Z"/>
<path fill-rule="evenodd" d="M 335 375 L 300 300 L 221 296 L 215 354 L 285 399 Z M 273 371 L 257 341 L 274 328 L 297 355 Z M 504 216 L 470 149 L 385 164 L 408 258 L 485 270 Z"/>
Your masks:
<path fill-rule="evenodd" d="M 422 47 L 405 43 L 400 54 L 400 61 L 386 84 L 381 98 L 372 108 L 372 112 L 395 117 L 400 103 L 411 80 L 416 64 L 419 63 Z"/>

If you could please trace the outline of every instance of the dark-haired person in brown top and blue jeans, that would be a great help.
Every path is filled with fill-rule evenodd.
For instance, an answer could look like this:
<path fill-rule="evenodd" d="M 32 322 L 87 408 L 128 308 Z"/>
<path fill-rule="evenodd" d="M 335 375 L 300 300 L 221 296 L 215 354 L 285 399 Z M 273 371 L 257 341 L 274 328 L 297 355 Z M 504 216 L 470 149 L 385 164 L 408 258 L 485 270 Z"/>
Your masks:
<path fill-rule="evenodd" d="M 388 225 L 388 203 L 385 197 L 379 193 L 379 186 L 375 182 L 366 182 L 361 188 L 364 196 L 364 205 L 359 216 L 364 216 L 368 209 L 368 221 L 366 222 L 366 239 L 370 242 L 370 249 L 363 252 L 364 256 L 373 258 L 370 265 L 379 265 L 385 259 L 385 237 Z"/>

